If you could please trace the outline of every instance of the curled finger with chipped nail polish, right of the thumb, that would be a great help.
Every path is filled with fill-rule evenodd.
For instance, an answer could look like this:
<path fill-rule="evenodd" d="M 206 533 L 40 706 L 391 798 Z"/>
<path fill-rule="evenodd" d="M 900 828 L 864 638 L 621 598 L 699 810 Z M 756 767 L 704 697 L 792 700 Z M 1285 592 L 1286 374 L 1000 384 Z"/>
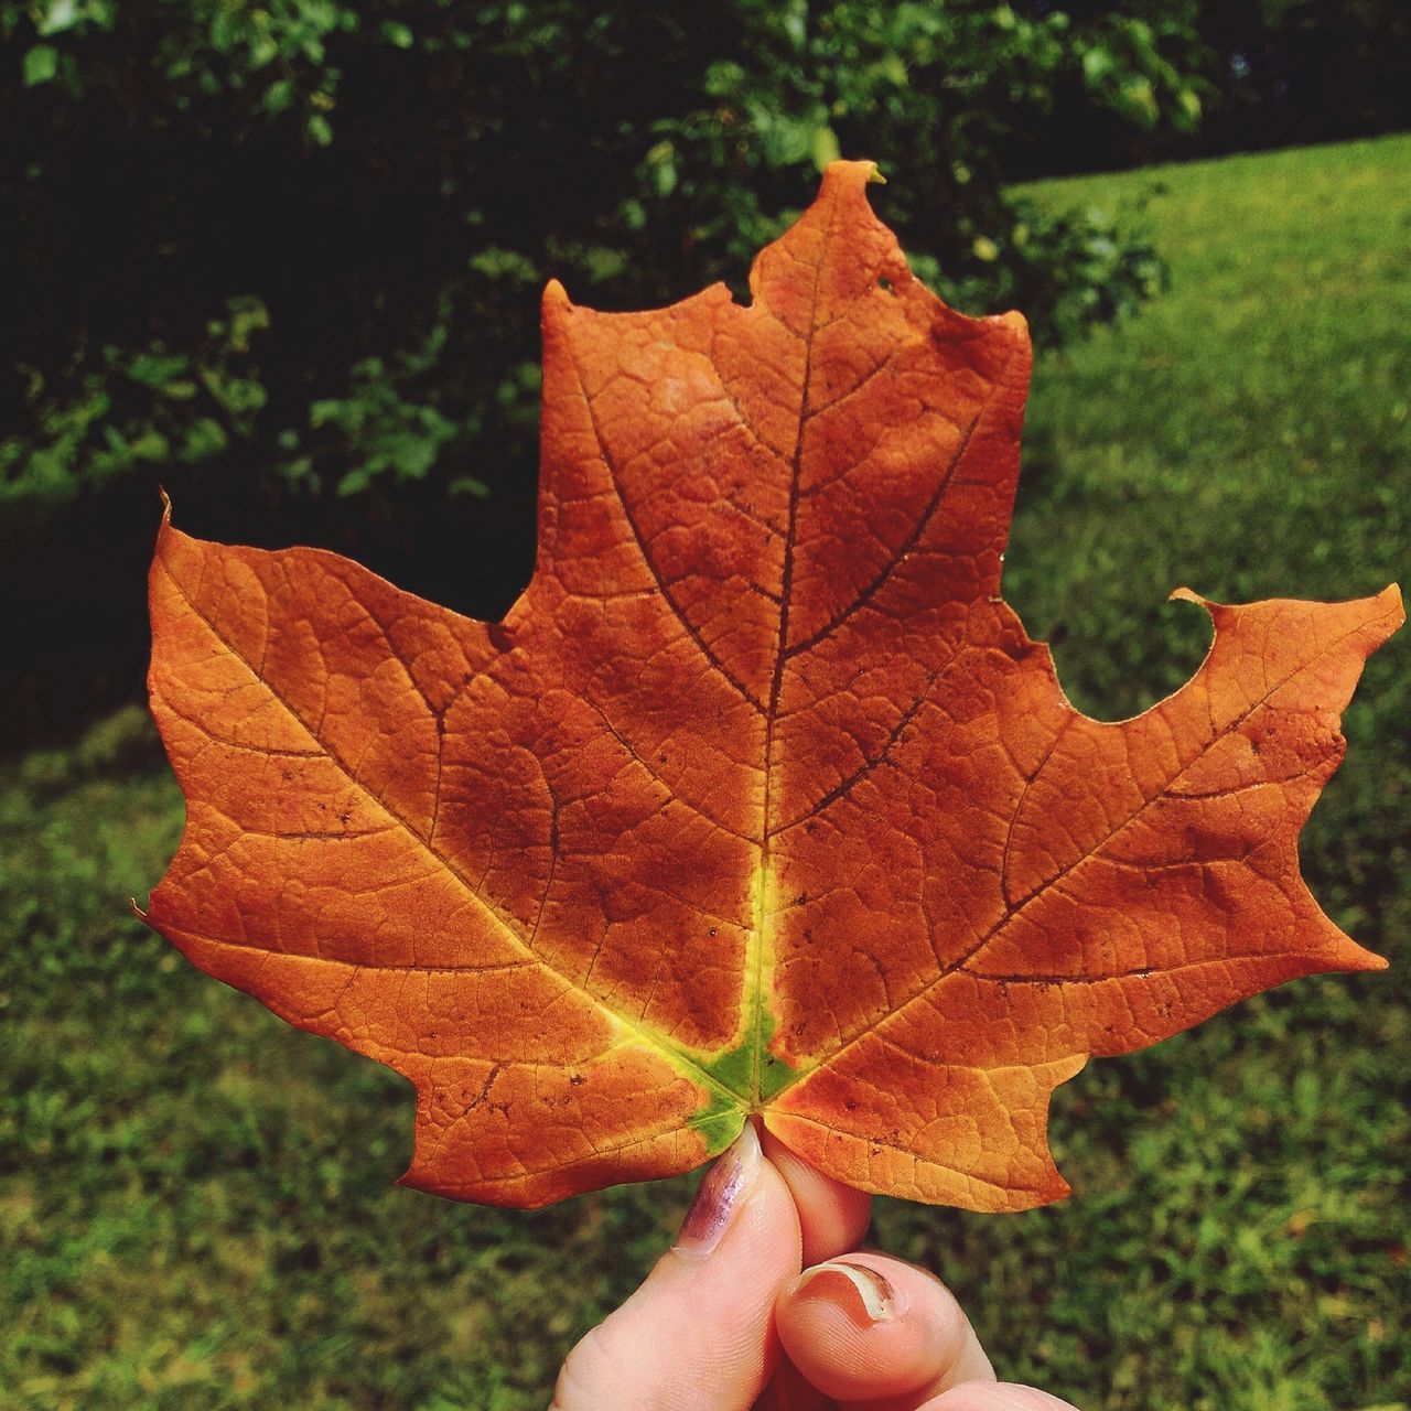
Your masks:
<path fill-rule="evenodd" d="M 940 1280 L 886 1254 L 806 1268 L 775 1305 L 794 1366 L 844 1405 L 913 1411 L 927 1397 L 995 1373 Z"/>

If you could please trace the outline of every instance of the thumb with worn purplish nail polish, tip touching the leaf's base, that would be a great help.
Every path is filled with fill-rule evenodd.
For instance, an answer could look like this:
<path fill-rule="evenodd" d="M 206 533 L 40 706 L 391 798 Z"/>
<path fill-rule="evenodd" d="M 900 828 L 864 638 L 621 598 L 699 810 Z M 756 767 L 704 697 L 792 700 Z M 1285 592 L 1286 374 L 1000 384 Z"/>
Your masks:
<path fill-rule="evenodd" d="M 550 1411 L 748 1411 L 799 1268 L 799 1215 L 746 1123 L 646 1283 L 569 1353 Z"/>

